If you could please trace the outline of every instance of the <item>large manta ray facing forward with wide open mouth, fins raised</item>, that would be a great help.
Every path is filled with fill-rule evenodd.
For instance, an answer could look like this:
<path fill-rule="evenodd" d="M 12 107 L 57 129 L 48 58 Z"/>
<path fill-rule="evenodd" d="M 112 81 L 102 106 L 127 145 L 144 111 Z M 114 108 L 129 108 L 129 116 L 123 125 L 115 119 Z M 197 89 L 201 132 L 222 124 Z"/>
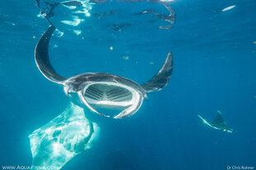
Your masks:
<path fill-rule="evenodd" d="M 37 67 L 48 80 L 63 85 L 65 94 L 75 104 L 82 108 L 89 108 L 102 116 L 123 118 L 133 115 L 140 108 L 143 99 L 147 98 L 146 93 L 162 90 L 172 74 L 173 57 L 169 52 L 163 67 L 143 85 L 108 73 L 83 73 L 65 78 L 60 76 L 50 63 L 48 48 L 54 31 L 55 26 L 51 24 L 36 45 Z M 116 115 L 107 115 L 98 112 L 97 108 L 121 108 L 121 112 Z"/>

